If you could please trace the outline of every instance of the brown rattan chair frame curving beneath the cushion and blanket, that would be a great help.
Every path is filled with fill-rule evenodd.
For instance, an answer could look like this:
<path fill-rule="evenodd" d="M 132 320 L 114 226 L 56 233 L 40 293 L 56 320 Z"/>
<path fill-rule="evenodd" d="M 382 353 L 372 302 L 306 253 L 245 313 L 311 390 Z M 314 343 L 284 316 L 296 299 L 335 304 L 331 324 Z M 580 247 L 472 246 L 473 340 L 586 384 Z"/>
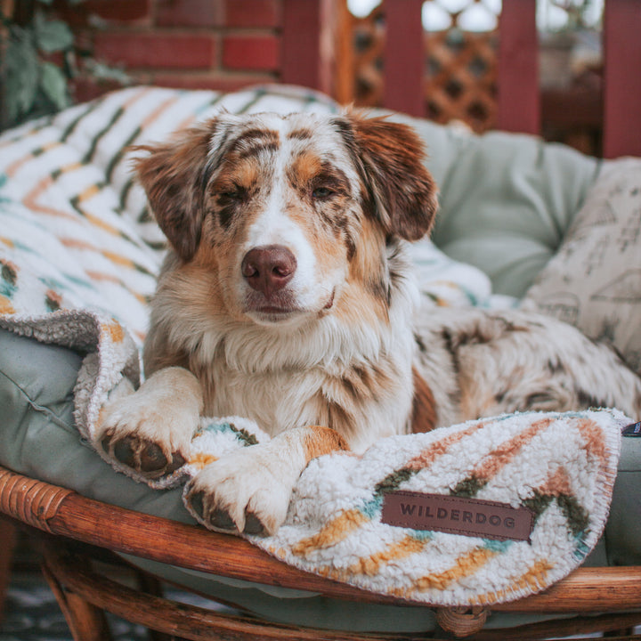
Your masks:
<path fill-rule="evenodd" d="M 202 528 L 143 515 L 86 499 L 0 468 L 0 511 L 37 533 L 43 551 L 43 572 L 49 581 L 76 641 L 110 639 L 105 612 L 142 624 L 170 637 L 155 639 L 410 639 L 472 635 L 474 639 L 550 638 L 629 629 L 641 624 L 641 567 L 581 568 L 553 588 L 493 612 L 573 615 L 517 629 L 482 631 L 489 610 L 478 608 L 436 611 L 441 630 L 422 635 L 354 633 L 309 629 L 259 621 L 175 603 L 161 596 L 158 580 L 135 570 L 131 581 L 115 580 L 122 565 L 112 552 L 125 553 L 217 576 L 283 588 L 307 589 L 339 599 L 369 604 L 418 604 L 377 596 L 301 572 L 255 548 L 245 540 Z M 86 545 L 89 544 L 89 545 Z M 4 546 L 3 553 L 10 553 Z M 94 564 L 94 561 L 100 561 Z M 425 605 L 420 605 L 425 607 Z M 606 614 L 604 614 L 606 613 Z M 432 636 L 434 634 L 434 637 Z M 625 634 L 625 633 L 622 633 Z"/>

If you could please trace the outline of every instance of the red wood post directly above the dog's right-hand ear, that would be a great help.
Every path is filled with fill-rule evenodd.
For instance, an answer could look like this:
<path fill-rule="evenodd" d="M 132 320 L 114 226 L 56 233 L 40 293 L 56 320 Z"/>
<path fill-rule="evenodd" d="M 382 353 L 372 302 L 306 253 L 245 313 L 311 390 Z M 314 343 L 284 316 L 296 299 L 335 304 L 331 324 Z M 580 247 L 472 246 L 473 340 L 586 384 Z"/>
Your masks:
<path fill-rule="evenodd" d="M 387 109 L 425 116 L 423 0 L 386 0 L 385 93 Z"/>

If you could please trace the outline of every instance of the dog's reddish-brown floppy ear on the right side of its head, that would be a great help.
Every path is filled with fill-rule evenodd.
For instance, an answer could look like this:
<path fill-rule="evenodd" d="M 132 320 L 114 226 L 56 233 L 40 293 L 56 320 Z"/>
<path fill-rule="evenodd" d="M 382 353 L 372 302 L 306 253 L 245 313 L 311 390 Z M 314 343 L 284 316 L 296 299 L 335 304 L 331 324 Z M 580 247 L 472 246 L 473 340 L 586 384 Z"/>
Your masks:
<path fill-rule="evenodd" d="M 407 240 L 423 238 L 432 227 L 438 189 L 423 165 L 425 149 L 408 125 L 387 118 L 346 116 L 352 147 L 361 160 L 369 199 L 385 231 Z"/>

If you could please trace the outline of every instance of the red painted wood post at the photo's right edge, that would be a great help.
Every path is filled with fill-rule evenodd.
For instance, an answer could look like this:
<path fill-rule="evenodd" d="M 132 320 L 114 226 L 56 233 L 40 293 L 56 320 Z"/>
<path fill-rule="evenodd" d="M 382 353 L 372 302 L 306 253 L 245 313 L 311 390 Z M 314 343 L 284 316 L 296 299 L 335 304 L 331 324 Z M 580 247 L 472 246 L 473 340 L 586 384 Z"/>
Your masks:
<path fill-rule="evenodd" d="M 641 2 L 604 4 L 604 158 L 641 156 Z"/>

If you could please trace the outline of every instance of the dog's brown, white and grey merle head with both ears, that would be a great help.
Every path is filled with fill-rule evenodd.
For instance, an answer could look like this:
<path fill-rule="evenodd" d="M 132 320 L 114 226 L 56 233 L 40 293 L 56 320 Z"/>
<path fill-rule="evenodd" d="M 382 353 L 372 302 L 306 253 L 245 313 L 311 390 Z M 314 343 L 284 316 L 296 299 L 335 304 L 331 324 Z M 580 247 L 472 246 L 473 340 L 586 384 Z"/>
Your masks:
<path fill-rule="evenodd" d="M 181 261 L 237 320 L 389 302 L 389 248 L 429 231 L 436 188 L 417 134 L 385 118 L 223 114 L 144 148 L 137 172 Z"/>

